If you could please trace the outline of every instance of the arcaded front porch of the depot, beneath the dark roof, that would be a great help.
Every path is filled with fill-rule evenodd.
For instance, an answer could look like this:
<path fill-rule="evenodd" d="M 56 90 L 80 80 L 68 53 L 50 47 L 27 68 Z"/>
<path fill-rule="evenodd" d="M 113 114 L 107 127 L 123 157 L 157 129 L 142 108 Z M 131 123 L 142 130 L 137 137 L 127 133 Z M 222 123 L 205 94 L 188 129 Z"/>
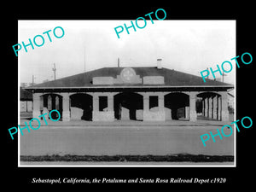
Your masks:
<path fill-rule="evenodd" d="M 49 100 L 51 96 L 51 100 Z M 33 93 L 33 118 L 58 109 L 62 121 L 196 121 L 197 98 L 202 115 L 227 121 L 226 90 L 175 88 L 48 89 Z M 212 98 L 211 104 L 206 102 Z"/>

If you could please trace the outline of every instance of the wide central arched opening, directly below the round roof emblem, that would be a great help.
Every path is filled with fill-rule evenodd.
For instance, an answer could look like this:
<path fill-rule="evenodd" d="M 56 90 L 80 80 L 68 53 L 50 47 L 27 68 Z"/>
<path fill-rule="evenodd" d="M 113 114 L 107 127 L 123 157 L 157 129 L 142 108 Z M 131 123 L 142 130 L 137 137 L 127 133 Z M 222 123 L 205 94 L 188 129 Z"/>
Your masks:
<path fill-rule="evenodd" d="M 114 118 L 143 120 L 143 96 L 133 92 L 113 96 Z"/>

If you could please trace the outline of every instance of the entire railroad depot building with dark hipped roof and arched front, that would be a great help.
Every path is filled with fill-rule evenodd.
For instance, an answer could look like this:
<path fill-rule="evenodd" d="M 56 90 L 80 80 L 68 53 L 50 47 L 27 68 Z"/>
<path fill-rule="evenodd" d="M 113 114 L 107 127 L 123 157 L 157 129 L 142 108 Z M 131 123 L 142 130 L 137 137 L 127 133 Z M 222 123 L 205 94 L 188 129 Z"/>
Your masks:
<path fill-rule="evenodd" d="M 229 120 L 232 84 L 161 67 L 104 67 L 35 84 L 32 116 L 57 109 L 63 121 Z M 198 108 L 198 102 L 200 107 Z"/>

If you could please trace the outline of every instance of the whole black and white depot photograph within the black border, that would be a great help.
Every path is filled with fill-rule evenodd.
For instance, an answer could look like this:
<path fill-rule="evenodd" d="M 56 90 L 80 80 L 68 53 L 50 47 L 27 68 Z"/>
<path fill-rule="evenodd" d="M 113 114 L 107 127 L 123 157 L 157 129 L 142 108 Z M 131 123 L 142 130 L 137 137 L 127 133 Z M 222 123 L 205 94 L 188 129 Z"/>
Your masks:
<path fill-rule="evenodd" d="M 18 42 L 19 166 L 236 166 L 236 20 L 19 20 Z"/>

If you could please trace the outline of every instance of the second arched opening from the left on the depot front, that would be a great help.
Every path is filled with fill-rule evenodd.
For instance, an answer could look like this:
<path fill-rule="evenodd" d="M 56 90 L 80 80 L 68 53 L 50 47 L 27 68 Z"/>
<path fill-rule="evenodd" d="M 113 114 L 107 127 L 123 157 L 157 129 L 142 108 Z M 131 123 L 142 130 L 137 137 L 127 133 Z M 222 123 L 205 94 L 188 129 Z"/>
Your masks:
<path fill-rule="evenodd" d="M 92 120 L 92 96 L 77 93 L 70 96 L 71 119 Z"/>

